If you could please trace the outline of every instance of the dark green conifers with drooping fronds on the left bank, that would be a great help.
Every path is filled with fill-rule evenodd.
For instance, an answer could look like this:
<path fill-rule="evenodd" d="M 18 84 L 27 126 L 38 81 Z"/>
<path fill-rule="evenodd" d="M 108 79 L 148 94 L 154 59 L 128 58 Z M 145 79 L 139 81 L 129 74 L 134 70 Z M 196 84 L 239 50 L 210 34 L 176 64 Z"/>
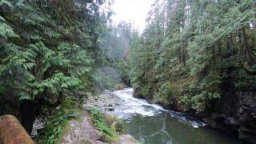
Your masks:
<path fill-rule="evenodd" d="M 99 44 L 110 15 L 102 1 L 0 2 L 0 115 L 30 133 L 35 116 L 63 98 L 81 99 L 101 66 Z M 6 103 L 6 104 L 5 104 Z"/>

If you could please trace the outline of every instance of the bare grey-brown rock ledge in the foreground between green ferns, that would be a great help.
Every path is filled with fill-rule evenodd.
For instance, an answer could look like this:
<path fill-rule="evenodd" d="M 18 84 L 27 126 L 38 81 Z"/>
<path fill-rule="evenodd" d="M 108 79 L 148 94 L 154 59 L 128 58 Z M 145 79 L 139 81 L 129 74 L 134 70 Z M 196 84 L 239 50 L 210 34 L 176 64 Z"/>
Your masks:
<path fill-rule="evenodd" d="M 112 118 L 107 116 L 108 118 Z M 110 119 L 109 119 L 110 120 Z M 112 119 L 107 125 L 112 126 L 113 129 L 118 129 L 115 122 L 118 119 Z M 58 138 L 58 143 L 60 144 L 70 144 L 70 143 L 86 143 L 86 144 L 138 144 L 139 142 L 134 139 L 129 134 L 117 134 L 108 135 L 104 131 L 97 129 L 94 126 L 94 117 L 87 111 L 82 112 L 78 120 L 72 120 L 66 124 L 63 129 L 61 136 Z"/>

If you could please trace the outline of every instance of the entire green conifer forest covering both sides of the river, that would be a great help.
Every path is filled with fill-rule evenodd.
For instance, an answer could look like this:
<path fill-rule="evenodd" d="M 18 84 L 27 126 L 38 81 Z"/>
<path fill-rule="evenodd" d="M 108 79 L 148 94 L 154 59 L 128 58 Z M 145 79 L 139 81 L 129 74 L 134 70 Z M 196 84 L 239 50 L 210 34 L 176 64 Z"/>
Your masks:
<path fill-rule="evenodd" d="M 67 98 L 81 106 L 132 86 L 137 98 L 256 142 L 255 0 L 154 0 L 142 34 L 114 25 L 111 4 L 0 0 L 0 116 L 30 134 L 38 115 L 72 117 L 58 110 Z"/>

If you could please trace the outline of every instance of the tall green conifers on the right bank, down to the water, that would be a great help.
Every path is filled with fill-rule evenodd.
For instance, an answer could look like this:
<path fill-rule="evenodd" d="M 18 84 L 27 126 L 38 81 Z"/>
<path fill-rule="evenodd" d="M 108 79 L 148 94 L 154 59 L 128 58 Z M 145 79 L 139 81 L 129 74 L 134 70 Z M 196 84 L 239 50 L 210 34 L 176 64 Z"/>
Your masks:
<path fill-rule="evenodd" d="M 130 43 L 134 93 L 253 138 L 255 13 L 254 0 L 154 1 Z"/>

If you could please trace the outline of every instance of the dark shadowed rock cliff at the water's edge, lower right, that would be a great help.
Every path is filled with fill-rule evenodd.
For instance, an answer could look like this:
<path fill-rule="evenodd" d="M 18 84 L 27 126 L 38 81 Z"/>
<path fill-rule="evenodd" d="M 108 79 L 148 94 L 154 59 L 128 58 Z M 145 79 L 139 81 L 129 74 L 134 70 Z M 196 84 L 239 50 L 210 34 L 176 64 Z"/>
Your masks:
<path fill-rule="evenodd" d="M 256 91 L 226 91 L 214 111 L 202 118 L 210 126 L 256 142 Z"/>

